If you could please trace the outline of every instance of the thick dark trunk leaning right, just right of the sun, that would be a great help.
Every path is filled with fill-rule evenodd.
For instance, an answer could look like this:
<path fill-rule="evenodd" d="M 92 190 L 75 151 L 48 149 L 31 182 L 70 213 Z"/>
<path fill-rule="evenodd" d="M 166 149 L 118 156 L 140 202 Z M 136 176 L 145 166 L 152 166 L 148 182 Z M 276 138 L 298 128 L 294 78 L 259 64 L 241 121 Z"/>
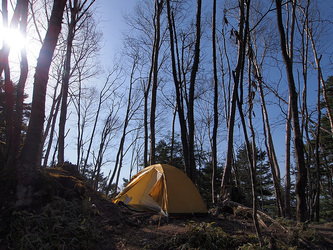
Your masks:
<path fill-rule="evenodd" d="M 16 206 L 26 206 L 32 203 L 33 185 L 38 173 L 38 154 L 40 153 L 39 147 L 44 125 L 46 86 L 53 52 L 61 30 L 65 5 L 66 0 L 54 1 L 48 30 L 37 60 L 31 117 L 24 146 L 17 163 Z"/>

